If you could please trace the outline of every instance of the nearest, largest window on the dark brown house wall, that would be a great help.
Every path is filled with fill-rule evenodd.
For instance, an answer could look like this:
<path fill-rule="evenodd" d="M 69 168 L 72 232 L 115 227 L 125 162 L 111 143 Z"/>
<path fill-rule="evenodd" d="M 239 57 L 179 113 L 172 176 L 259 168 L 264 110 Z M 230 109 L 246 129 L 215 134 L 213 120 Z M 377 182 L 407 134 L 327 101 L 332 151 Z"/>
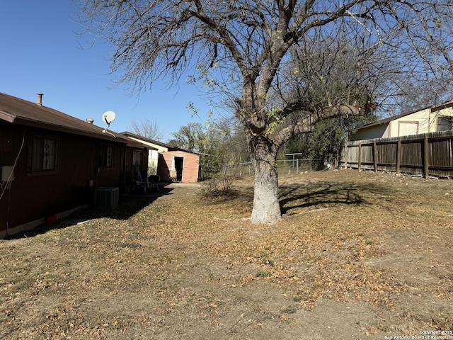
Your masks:
<path fill-rule="evenodd" d="M 57 138 L 34 136 L 28 157 L 28 172 L 57 171 L 59 140 Z"/>

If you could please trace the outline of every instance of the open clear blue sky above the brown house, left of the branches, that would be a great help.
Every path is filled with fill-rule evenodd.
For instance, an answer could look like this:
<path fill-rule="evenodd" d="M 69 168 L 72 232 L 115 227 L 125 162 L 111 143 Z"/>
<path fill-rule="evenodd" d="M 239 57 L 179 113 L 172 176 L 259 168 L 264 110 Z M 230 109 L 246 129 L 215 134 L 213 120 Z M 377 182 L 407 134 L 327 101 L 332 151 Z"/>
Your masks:
<path fill-rule="evenodd" d="M 110 129 L 116 132 L 131 130 L 132 120 L 155 120 L 163 141 L 188 122 L 206 120 L 212 108 L 185 77 L 179 89 L 167 89 L 162 81 L 139 96 L 130 96 L 127 86 L 115 87 L 107 60 L 112 47 L 90 47 L 91 38 L 77 34 L 83 29 L 76 13 L 70 0 L 1 0 L 0 92 L 33 102 L 42 92 L 44 106 L 82 120 L 93 118 L 99 126 L 104 126 L 103 113 L 114 111 Z M 200 109 L 199 117 L 192 117 L 189 102 Z"/>

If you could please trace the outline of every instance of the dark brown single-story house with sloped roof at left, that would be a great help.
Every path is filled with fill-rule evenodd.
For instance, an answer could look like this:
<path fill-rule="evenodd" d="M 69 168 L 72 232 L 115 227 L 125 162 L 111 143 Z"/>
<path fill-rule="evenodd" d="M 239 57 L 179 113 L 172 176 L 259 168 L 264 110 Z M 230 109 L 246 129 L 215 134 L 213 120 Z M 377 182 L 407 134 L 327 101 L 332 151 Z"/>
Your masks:
<path fill-rule="evenodd" d="M 100 190 L 113 199 L 147 171 L 147 147 L 42 106 L 41 96 L 0 93 L 0 238 L 103 204 Z"/>

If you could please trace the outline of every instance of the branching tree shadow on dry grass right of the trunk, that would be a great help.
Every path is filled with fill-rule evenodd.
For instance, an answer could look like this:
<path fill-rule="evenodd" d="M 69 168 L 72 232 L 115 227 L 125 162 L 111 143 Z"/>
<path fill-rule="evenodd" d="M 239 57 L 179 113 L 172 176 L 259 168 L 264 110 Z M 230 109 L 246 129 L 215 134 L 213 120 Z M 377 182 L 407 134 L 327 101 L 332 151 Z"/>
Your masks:
<path fill-rule="evenodd" d="M 328 208 L 333 205 L 370 204 L 367 197 L 384 196 L 387 189 L 373 183 L 336 183 L 330 181 L 280 186 L 280 209 L 290 214 L 298 208 Z"/>

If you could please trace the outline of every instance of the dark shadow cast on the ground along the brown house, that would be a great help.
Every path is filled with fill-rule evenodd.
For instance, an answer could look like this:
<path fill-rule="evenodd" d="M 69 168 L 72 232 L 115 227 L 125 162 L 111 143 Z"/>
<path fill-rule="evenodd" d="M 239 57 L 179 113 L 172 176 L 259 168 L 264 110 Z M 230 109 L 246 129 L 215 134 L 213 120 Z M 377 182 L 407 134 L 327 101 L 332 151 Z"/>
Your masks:
<path fill-rule="evenodd" d="M 159 191 L 153 188 L 147 191 L 147 193 L 132 192 L 122 194 L 119 198 L 118 206 L 114 209 L 96 208 L 91 205 L 88 208 L 76 210 L 71 215 L 63 217 L 55 223 L 45 222 L 34 229 L 8 236 L 6 239 L 34 237 L 39 234 L 45 234 L 50 230 L 64 229 L 71 225 L 77 225 L 88 220 L 95 220 L 103 217 L 113 218 L 115 220 L 127 220 L 153 203 L 157 198 L 170 195 L 173 188 L 168 187 L 168 184 L 169 183 L 159 183 Z"/>

